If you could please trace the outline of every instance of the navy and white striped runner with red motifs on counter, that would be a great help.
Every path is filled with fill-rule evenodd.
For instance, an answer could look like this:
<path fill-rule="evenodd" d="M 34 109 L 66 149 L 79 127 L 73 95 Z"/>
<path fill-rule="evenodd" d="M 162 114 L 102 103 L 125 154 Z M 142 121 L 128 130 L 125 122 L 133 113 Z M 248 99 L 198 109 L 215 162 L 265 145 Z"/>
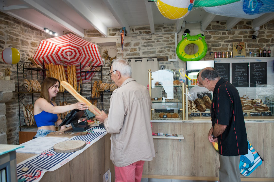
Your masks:
<path fill-rule="evenodd" d="M 95 129 L 102 129 L 104 131 L 94 132 Z M 53 147 L 44 153 L 35 155 L 27 160 L 17 164 L 17 178 L 20 181 L 39 181 L 47 171 L 54 171 L 67 162 L 71 161 L 74 157 L 81 154 L 85 149 L 89 148 L 93 143 L 105 136 L 107 132 L 105 128 L 93 127 L 90 128 L 89 133 L 85 136 L 74 136 L 68 140 L 83 140 L 86 146 L 76 152 L 71 153 L 56 153 Z M 28 171 L 22 171 L 22 168 L 27 167 Z"/>

